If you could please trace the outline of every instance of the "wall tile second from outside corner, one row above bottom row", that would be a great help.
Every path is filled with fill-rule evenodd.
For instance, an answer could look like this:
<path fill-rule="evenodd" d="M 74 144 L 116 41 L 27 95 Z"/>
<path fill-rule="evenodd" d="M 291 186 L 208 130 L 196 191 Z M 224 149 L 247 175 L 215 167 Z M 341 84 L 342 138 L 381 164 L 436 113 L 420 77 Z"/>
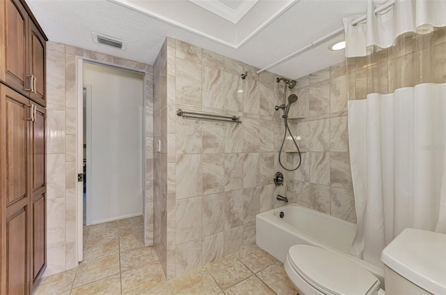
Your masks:
<path fill-rule="evenodd" d="M 222 232 L 224 230 L 224 193 L 203 196 L 201 202 L 203 236 Z"/>

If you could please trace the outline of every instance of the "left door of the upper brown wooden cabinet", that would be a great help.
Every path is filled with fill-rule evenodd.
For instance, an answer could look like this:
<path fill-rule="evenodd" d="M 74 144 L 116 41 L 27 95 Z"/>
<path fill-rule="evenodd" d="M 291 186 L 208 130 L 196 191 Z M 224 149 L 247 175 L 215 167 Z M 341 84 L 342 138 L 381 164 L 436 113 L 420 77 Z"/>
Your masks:
<path fill-rule="evenodd" d="M 21 93 L 28 94 L 30 78 L 28 73 L 28 55 L 27 55 L 27 32 L 28 32 L 28 14 L 18 0 L 0 1 L 3 5 L 4 18 L 2 16 L 3 29 L 5 33 L 3 38 L 5 43 L 5 61 L 4 75 L 5 81 Z"/>

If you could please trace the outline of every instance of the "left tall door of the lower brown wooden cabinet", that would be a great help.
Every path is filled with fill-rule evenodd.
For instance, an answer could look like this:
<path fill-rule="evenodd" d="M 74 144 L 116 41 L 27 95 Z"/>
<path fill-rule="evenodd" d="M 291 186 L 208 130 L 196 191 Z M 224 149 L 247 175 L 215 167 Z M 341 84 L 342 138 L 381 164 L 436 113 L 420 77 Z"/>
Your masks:
<path fill-rule="evenodd" d="M 5 294 L 30 292 L 29 103 L 0 85 L 1 288 Z"/>

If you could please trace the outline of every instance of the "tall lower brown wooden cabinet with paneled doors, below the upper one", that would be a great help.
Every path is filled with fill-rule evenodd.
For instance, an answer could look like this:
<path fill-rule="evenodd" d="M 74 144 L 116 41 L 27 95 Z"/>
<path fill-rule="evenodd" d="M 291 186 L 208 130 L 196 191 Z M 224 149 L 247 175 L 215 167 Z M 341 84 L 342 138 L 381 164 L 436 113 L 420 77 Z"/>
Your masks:
<path fill-rule="evenodd" d="M 31 294 L 46 265 L 45 109 L 0 84 L 0 294 Z"/>

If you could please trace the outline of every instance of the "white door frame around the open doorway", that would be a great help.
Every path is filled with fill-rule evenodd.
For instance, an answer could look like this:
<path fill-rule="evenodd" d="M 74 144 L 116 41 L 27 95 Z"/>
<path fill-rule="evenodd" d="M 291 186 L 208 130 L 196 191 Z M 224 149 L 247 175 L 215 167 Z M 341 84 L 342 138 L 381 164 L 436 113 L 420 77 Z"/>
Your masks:
<path fill-rule="evenodd" d="M 76 94 L 77 94 L 77 174 L 84 173 L 84 62 L 95 63 L 100 66 L 110 66 L 113 68 L 119 68 L 122 70 L 130 70 L 134 73 L 142 74 L 144 77 L 144 87 L 143 87 L 143 101 L 142 101 L 142 204 L 143 210 L 142 215 L 144 218 L 144 243 L 146 242 L 146 158 L 147 158 L 147 149 L 146 149 L 146 100 L 147 100 L 147 75 L 144 70 L 138 70 L 136 68 L 128 68 L 124 66 L 118 66 L 114 63 L 105 63 L 99 62 L 94 59 L 88 59 L 83 56 L 76 56 Z M 88 192 L 88 185 L 87 185 Z M 84 259 L 84 210 L 83 210 L 83 202 L 84 202 L 84 182 L 77 182 L 77 261 L 81 262 Z"/>

